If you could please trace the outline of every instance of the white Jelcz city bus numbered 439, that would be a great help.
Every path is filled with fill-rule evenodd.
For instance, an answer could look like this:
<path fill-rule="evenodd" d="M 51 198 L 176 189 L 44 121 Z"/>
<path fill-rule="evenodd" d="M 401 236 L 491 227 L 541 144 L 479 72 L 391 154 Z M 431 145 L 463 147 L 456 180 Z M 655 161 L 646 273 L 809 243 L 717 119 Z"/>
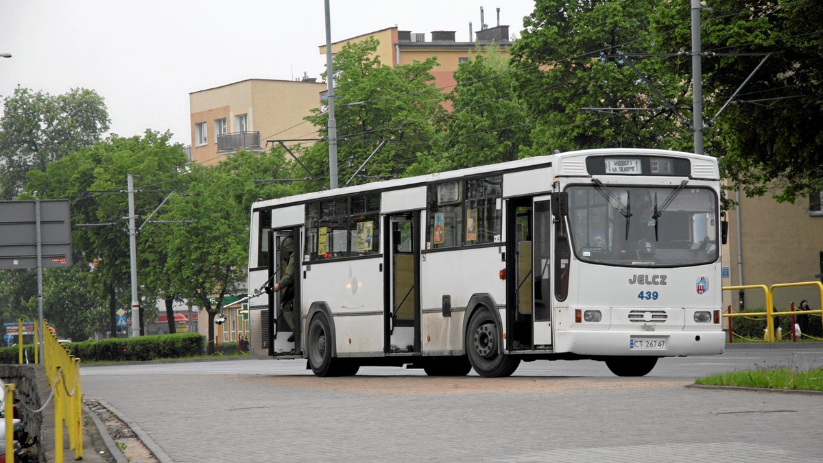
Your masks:
<path fill-rule="evenodd" d="M 719 188 L 712 157 L 602 149 L 258 201 L 252 353 L 318 376 L 484 377 L 537 359 L 643 376 L 660 357 L 721 354 Z M 264 290 L 287 234 L 293 341 L 281 292 Z"/>

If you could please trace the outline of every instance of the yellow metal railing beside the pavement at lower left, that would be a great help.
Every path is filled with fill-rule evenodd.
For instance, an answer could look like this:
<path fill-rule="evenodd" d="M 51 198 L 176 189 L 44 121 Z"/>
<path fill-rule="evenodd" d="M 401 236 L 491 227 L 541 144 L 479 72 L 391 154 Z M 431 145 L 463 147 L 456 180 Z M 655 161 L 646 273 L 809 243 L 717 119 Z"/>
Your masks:
<path fill-rule="evenodd" d="M 75 460 L 83 457 L 80 359 L 68 353 L 43 321 L 43 350 L 46 377 L 54 389 L 54 460 L 63 461 L 63 422 Z"/>

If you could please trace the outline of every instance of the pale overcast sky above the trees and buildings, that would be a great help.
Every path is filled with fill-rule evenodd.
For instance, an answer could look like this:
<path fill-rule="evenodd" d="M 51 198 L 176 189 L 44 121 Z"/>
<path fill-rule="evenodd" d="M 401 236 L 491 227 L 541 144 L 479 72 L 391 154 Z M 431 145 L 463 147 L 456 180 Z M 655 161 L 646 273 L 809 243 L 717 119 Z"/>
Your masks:
<path fill-rule="evenodd" d="M 332 42 L 397 25 L 454 30 L 509 25 L 519 37 L 534 0 L 331 0 Z M 319 77 L 323 0 L 0 0 L 0 100 L 16 86 L 61 95 L 95 90 L 110 132 L 174 133 L 191 144 L 188 94 L 246 79 Z"/>

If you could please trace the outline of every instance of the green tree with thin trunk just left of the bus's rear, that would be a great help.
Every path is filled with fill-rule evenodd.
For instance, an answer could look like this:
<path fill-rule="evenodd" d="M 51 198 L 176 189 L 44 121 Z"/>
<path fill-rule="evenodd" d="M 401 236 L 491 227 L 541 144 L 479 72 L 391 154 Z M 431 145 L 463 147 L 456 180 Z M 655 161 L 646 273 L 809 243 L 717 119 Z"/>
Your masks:
<path fill-rule="evenodd" d="M 174 227 L 165 238 L 165 272 L 182 297 L 208 313 L 210 340 L 226 296 L 244 290 L 253 201 L 295 192 L 290 183 L 261 181 L 293 178 L 294 167 L 284 155 L 283 150 L 239 151 L 216 166 L 193 165 L 186 194 L 173 197 L 163 215 L 194 221 Z"/>

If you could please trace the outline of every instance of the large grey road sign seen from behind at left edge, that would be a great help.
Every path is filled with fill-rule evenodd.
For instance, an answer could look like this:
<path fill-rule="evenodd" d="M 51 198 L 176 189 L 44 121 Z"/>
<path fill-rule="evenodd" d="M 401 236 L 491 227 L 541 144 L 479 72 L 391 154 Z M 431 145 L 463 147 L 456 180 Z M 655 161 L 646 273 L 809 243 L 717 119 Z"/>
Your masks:
<path fill-rule="evenodd" d="M 72 265 L 72 220 L 67 200 L 0 201 L 0 268 L 37 267 L 37 208 L 40 263 Z"/>

